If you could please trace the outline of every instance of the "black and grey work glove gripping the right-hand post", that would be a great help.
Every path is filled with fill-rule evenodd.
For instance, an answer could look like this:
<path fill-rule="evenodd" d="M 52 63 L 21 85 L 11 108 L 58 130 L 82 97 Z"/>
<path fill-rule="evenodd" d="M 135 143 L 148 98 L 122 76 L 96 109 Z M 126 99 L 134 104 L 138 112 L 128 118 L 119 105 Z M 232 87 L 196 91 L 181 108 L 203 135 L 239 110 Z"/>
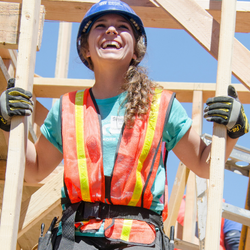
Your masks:
<path fill-rule="evenodd" d="M 238 138 L 248 133 L 249 123 L 235 88 L 229 85 L 227 92 L 229 96 L 207 99 L 204 118 L 225 125 L 229 137 Z"/>

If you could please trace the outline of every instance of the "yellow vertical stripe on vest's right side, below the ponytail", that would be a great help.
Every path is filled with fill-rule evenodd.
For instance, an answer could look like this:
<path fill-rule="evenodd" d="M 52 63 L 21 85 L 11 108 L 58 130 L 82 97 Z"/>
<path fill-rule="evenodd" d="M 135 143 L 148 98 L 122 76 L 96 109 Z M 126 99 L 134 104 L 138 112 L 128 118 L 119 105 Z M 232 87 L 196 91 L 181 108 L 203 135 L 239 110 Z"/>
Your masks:
<path fill-rule="evenodd" d="M 158 117 L 158 112 L 159 112 L 159 107 L 160 107 L 161 92 L 162 90 L 160 89 L 155 90 L 155 95 L 153 97 L 153 101 L 151 104 L 145 141 L 144 141 L 141 155 L 138 159 L 138 165 L 136 169 L 135 188 L 134 188 L 132 198 L 128 204 L 129 206 L 136 206 L 142 194 L 143 183 L 142 183 L 142 178 L 141 178 L 141 170 L 142 170 L 143 163 L 148 156 L 149 150 L 153 142 L 154 132 L 155 132 L 156 123 L 157 123 L 157 117 Z"/>

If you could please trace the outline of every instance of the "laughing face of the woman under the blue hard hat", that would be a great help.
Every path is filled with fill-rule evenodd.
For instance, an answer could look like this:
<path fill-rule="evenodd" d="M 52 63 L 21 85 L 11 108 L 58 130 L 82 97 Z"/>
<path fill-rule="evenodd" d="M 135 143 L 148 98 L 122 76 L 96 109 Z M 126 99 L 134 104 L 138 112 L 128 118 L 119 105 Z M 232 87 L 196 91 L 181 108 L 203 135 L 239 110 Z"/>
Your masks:
<path fill-rule="evenodd" d="M 93 24 L 89 37 L 87 57 L 94 68 L 102 63 L 116 63 L 129 66 L 134 53 L 135 37 L 129 22 L 122 16 L 108 14 Z"/>

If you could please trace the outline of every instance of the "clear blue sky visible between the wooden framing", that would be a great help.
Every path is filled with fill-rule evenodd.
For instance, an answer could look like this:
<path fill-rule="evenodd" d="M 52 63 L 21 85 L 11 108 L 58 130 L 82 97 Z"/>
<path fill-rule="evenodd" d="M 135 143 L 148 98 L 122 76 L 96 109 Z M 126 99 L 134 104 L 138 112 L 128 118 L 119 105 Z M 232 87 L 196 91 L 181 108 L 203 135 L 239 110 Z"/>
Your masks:
<path fill-rule="evenodd" d="M 37 53 L 35 73 L 42 77 L 55 76 L 59 23 L 46 21 L 41 50 Z M 73 24 L 68 78 L 93 79 L 78 58 L 75 46 L 78 24 Z M 203 49 L 184 30 L 146 28 L 148 50 L 142 64 L 147 67 L 149 77 L 155 81 L 215 83 L 217 60 Z M 250 33 L 236 33 L 236 38 L 250 49 Z M 233 83 L 239 83 L 232 77 Z M 40 99 L 49 109 L 51 100 Z M 191 103 L 183 103 L 191 117 Z M 250 119 L 250 106 L 244 105 Z M 203 133 L 212 134 L 212 124 L 204 120 Z M 240 138 L 238 145 L 250 149 L 249 134 Z M 170 152 L 168 159 L 168 181 L 170 190 L 174 182 L 179 160 Z M 228 203 L 244 207 L 248 178 L 225 170 L 224 198 Z"/>

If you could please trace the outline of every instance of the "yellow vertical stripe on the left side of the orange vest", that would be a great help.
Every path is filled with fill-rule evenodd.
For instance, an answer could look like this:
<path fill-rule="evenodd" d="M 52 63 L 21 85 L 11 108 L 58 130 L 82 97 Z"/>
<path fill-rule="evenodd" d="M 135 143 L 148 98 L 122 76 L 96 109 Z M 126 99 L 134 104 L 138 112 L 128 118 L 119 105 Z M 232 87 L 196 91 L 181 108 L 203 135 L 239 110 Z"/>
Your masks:
<path fill-rule="evenodd" d="M 81 185 L 82 199 L 91 201 L 89 193 L 88 169 L 84 148 L 84 124 L 83 124 L 83 97 L 84 91 L 78 91 L 75 97 L 75 123 L 76 123 L 76 149 L 78 158 L 78 170 Z"/>

